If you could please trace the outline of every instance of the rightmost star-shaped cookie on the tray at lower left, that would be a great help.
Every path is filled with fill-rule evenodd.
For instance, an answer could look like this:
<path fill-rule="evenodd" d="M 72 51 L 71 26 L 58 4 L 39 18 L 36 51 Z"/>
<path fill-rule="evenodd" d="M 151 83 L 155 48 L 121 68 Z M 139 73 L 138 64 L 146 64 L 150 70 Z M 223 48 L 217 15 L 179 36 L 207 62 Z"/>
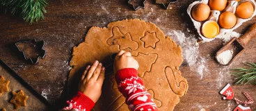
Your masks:
<path fill-rule="evenodd" d="M 15 109 L 19 106 L 26 106 L 26 100 L 29 99 L 29 96 L 26 96 L 22 90 L 19 92 L 13 92 L 13 98 L 10 100 L 10 103 L 15 105 Z"/>

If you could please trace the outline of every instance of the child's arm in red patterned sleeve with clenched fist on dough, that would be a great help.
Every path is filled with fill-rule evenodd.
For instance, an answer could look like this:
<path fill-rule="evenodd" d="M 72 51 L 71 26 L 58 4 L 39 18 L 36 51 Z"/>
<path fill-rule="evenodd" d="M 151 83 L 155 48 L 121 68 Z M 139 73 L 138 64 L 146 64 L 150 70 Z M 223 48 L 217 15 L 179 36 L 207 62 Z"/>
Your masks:
<path fill-rule="evenodd" d="M 119 91 L 125 96 L 129 110 L 154 111 L 157 105 L 152 96 L 143 85 L 143 80 L 138 77 L 138 62 L 131 53 L 120 51 L 115 57 L 114 72 Z"/>

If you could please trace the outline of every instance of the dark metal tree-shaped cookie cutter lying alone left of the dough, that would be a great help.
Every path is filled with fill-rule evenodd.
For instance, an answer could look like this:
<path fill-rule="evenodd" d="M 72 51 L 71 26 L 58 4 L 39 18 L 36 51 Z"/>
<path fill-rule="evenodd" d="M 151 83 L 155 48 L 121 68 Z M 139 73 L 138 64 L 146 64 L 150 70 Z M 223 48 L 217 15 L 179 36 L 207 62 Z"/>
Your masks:
<path fill-rule="evenodd" d="M 26 60 L 31 60 L 33 64 L 38 63 L 39 58 L 45 58 L 45 41 L 22 40 L 15 43 L 17 49 L 23 53 Z"/>

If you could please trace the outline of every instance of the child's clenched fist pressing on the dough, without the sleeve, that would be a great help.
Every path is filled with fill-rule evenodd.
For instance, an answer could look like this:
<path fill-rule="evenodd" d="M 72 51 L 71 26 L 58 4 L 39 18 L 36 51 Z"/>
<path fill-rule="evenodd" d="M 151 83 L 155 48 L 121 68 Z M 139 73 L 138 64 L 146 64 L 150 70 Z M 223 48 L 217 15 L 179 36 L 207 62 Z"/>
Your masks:
<path fill-rule="evenodd" d="M 131 56 L 130 52 L 119 51 L 114 60 L 114 73 L 125 68 L 138 70 L 138 62 Z"/>

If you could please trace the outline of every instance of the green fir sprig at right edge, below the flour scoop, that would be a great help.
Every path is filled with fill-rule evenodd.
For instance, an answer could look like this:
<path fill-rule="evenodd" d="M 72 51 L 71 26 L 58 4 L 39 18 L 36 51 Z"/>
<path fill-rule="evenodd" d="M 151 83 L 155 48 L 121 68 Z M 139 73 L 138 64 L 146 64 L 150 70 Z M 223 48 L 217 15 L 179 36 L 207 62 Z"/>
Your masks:
<path fill-rule="evenodd" d="M 247 63 L 244 63 L 244 65 L 247 65 L 250 68 L 249 69 L 246 69 L 246 68 L 233 69 L 234 72 L 232 72 L 232 74 L 236 76 L 236 78 L 234 78 L 235 80 L 237 80 L 236 84 L 237 85 L 246 84 L 246 83 L 249 83 L 250 81 L 256 84 L 256 64 L 253 62 L 247 62 Z"/>

